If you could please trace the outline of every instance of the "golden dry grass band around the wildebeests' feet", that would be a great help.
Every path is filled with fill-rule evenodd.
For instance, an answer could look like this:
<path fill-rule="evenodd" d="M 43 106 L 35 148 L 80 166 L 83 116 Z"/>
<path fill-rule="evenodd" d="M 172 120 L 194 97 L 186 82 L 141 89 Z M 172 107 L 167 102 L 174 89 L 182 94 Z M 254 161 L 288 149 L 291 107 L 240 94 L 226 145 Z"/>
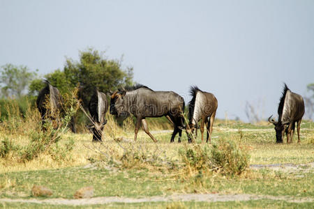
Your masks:
<path fill-rule="evenodd" d="M 9 139 L 17 146 L 27 146 L 30 140 L 29 132 L 41 132 L 40 114 L 37 109 L 29 105 L 27 114 L 23 118 L 17 104 L 14 102 L 7 109 L 9 118 L 8 121 L 4 121 L 0 125 L 0 141 Z M 31 161 L 20 162 L 13 153 L 8 153 L 7 157 L 0 158 L 0 172 L 77 167 L 99 160 L 105 162 L 116 160 L 126 168 L 149 167 L 149 161 L 151 160 L 157 160 L 159 163 L 180 162 L 179 150 L 190 147 L 190 144 L 187 144 L 185 132 L 182 134 L 183 143 L 181 144 L 177 144 L 177 142 L 170 144 L 171 133 L 168 132 L 154 134 L 158 140 L 158 143 L 155 144 L 142 130 L 138 134 L 137 142 L 133 142 L 133 118 L 127 118 L 122 127 L 117 125 L 114 117 L 110 114 L 107 114 L 106 118 L 107 124 L 105 125 L 102 144 L 92 143 L 90 133 L 73 134 L 67 132 L 62 134 L 59 145 L 66 145 L 70 140 L 73 140 L 74 146 L 73 150 L 66 153 L 64 159 L 56 160 L 49 153 L 41 153 Z M 169 122 L 166 120 L 165 123 L 168 124 Z M 151 130 L 154 130 L 156 127 L 158 129 L 161 126 L 156 125 L 154 127 L 154 125 L 149 123 L 149 127 Z M 311 124 L 309 127 L 311 127 Z M 239 131 L 235 132 L 234 129 L 237 130 L 237 128 L 239 128 Z M 246 132 L 241 131 L 241 128 L 246 130 L 250 128 L 256 130 L 258 128 L 261 131 Z M 274 131 L 270 128 L 271 126 L 266 124 L 251 125 L 234 121 L 216 120 L 214 123 L 213 142 L 218 139 L 235 141 L 240 148 L 247 150 L 249 155 L 251 155 L 251 164 L 285 162 L 298 164 L 313 161 L 313 129 L 301 130 L 301 144 L 296 144 L 296 137 L 294 137 L 294 144 L 275 144 Z M 200 134 L 196 143 L 200 143 Z M 132 155 L 135 161 L 123 160 L 123 157 L 126 159 L 126 155 Z M 141 157 L 148 158 L 140 159 Z"/>

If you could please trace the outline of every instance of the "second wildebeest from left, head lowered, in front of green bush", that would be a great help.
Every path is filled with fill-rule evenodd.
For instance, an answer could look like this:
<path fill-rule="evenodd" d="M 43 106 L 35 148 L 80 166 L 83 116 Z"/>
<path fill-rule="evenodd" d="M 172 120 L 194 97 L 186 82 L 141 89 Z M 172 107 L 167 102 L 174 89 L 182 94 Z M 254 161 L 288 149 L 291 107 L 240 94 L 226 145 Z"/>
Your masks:
<path fill-rule="evenodd" d="M 102 141 L 103 127 L 107 123 L 105 114 L 108 106 L 105 93 L 96 90 L 94 95 L 91 96 L 91 100 L 89 100 L 89 113 L 93 118 L 93 125 L 89 126 L 89 129 L 93 133 L 93 141 Z"/>

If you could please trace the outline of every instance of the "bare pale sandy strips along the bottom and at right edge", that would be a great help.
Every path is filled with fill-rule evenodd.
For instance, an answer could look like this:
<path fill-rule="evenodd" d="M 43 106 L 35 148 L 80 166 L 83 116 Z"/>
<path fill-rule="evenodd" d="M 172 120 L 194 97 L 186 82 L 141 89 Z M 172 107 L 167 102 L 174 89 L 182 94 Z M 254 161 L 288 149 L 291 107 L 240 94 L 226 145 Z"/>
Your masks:
<path fill-rule="evenodd" d="M 285 172 L 302 173 L 311 172 L 314 168 L 314 162 L 308 164 L 252 164 L 251 169 L 274 169 Z M 296 196 L 271 196 L 258 194 L 173 194 L 170 196 L 144 196 L 140 198 L 128 198 L 119 196 L 102 196 L 90 199 L 0 199 L 0 203 L 38 203 L 51 205 L 66 205 L 66 206 L 85 206 L 107 203 L 144 203 L 144 202 L 172 202 L 172 201 L 250 201 L 270 199 L 287 201 L 291 203 L 304 203 L 314 201 L 311 197 L 296 197 Z"/>

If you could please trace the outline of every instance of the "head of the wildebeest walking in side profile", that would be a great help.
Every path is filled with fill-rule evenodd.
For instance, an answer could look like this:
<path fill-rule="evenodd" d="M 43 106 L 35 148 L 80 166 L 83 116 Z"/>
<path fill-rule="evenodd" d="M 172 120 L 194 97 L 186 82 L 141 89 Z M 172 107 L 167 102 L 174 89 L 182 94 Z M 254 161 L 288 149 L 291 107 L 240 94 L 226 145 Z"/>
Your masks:
<path fill-rule="evenodd" d="M 110 114 L 125 116 L 128 114 L 127 101 L 125 100 L 126 91 L 116 91 L 110 99 Z"/>

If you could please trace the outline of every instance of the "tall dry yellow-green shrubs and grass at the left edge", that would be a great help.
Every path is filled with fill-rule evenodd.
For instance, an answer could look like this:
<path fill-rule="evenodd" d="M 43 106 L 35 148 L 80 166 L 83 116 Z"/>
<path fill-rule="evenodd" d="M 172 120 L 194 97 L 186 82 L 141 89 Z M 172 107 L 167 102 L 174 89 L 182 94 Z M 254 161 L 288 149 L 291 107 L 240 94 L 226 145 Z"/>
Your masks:
<path fill-rule="evenodd" d="M 0 130 L 10 135 L 12 139 L 6 137 L 1 141 L 0 157 L 6 158 L 11 153 L 17 162 L 27 162 L 44 153 L 51 155 L 54 160 L 65 159 L 68 151 L 73 149 L 74 141 L 70 140 L 68 144 L 62 146 L 58 142 L 68 131 L 68 123 L 78 109 L 75 95 L 77 90 L 63 96 L 63 117 L 58 121 L 57 128 L 54 128 L 53 122 L 46 118 L 43 128 L 45 131 L 42 130 L 40 115 L 34 107 L 28 104 L 27 111 L 22 115 L 14 100 L 9 103 L 6 107 L 8 120 L 1 123 Z M 17 135 L 28 140 L 25 146 L 15 145 Z"/>

